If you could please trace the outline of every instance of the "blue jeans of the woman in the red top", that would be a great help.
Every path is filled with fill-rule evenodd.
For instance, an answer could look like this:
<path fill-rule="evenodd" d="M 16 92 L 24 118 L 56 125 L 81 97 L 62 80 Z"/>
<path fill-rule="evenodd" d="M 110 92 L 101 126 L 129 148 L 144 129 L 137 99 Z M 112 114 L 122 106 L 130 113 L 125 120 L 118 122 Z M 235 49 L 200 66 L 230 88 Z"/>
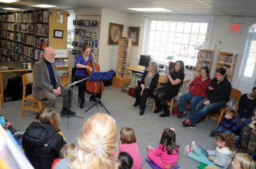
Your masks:
<path fill-rule="evenodd" d="M 186 92 L 179 98 L 179 112 L 185 112 L 186 111 L 186 102 L 190 100 L 189 105 L 190 105 L 190 110 L 189 114 L 194 114 L 195 107 L 199 101 L 204 99 L 202 96 L 195 96 L 191 94 L 190 92 Z"/>

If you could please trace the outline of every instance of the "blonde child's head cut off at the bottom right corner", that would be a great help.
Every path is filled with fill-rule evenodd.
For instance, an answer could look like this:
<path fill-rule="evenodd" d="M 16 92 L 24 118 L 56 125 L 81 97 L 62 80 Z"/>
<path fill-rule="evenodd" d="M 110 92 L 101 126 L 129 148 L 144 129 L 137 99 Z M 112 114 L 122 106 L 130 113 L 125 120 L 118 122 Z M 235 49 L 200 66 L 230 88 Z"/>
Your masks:
<path fill-rule="evenodd" d="M 255 161 L 248 154 L 237 153 L 232 161 L 232 169 L 254 169 Z"/>

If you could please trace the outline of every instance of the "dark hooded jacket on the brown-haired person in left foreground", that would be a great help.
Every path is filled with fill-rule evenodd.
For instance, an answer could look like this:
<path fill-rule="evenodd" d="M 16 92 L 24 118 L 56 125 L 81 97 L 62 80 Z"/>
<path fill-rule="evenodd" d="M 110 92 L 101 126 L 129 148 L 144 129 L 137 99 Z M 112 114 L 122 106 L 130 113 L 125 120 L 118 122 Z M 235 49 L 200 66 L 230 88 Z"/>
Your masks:
<path fill-rule="evenodd" d="M 50 169 L 64 145 L 63 136 L 40 122 L 32 122 L 22 138 L 24 152 L 35 169 Z"/>

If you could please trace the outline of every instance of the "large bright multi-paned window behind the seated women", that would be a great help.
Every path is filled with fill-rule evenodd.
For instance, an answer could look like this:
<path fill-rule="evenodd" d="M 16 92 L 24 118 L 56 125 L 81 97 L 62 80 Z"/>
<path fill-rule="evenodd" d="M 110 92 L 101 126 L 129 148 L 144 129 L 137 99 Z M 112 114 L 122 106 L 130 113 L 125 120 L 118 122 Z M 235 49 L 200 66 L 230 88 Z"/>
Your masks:
<path fill-rule="evenodd" d="M 157 62 L 182 60 L 195 65 L 198 48 L 203 48 L 207 22 L 151 20 L 147 54 Z"/>

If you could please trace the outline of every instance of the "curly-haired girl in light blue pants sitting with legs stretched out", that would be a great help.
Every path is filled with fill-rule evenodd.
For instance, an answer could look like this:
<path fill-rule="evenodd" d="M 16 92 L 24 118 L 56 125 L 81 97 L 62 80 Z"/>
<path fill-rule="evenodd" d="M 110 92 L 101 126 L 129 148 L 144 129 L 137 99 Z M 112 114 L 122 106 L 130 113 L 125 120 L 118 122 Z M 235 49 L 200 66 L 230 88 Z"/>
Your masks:
<path fill-rule="evenodd" d="M 208 158 L 195 142 L 192 142 L 191 146 L 185 147 L 184 154 L 205 165 L 217 165 L 227 169 L 236 153 L 235 135 L 233 133 L 220 133 L 216 136 L 216 144 L 215 151 L 207 151 Z"/>

